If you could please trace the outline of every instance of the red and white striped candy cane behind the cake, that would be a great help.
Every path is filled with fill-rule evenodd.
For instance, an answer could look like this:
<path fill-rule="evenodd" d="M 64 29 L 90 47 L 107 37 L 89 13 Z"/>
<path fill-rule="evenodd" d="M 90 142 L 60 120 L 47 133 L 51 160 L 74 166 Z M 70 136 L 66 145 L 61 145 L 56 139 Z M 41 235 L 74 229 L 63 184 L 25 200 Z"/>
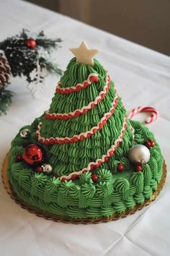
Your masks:
<path fill-rule="evenodd" d="M 138 108 L 133 108 L 132 111 L 130 111 L 128 119 L 132 119 L 133 116 L 135 116 L 136 114 L 143 113 L 143 112 L 151 112 L 151 115 L 148 116 L 148 118 L 145 121 L 146 124 L 151 124 L 153 123 L 153 121 L 156 121 L 156 119 L 158 119 L 158 111 L 156 110 L 156 108 L 153 108 L 151 106 L 147 106 L 147 107 L 139 106 Z"/>

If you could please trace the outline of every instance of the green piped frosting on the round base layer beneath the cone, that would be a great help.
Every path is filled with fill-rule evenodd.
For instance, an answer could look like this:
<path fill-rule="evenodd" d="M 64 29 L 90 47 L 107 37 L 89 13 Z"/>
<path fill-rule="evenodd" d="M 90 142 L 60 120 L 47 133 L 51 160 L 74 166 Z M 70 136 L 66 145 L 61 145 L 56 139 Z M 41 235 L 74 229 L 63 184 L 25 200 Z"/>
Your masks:
<path fill-rule="evenodd" d="M 136 121 L 130 123 L 135 130 L 147 134 L 148 137 L 144 137 L 144 140 L 151 138 L 152 134 L 149 131 L 144 132 L 148 130 L 147 127 Z M 17 140 L 17 143 L 14 143 L 14 140 Z M 22 153 L 24 148 L 23 139 L 19 135 L 14 140 L 8 170 L 9 181 L 14 191 L 25 203 L 59 216 L 97 218 L 122 213 L 150 198 L 161 179 L 163 158 L 157 142 L 154 154 L 151 155 L 150 161 L 143 165 L 141 172 L 125 170 L 122 173 L 115 173 L 114 170 L 98 168 L 97 182 L 92 181 L 91 172 L 81 174 L 78 180 L 61 182 L 52 175 L 35 173 L 23 161 L 16 162 L 16 153 Z M 125 157 L 122 159 L 123 164 L 128 162 L 130 166 Z M 120 160 L 115 161 L 120 163 Z"/>

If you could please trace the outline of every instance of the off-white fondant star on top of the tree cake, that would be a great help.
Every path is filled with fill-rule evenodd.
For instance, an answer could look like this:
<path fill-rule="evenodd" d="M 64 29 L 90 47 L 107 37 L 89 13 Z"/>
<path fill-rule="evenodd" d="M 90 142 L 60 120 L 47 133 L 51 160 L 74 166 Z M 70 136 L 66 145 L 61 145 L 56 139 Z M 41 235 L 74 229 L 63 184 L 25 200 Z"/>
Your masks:
<path fill-rule="evenodd" d="M 76 56 L 76 60 L 79 63 L 92 66 L 94 65 L 93 57 L 99 52 L 98 49 L 90 49 L 85 41 L 83 41 L 78 48 L 70 48 L 70 50 L 73 55 Z"/>

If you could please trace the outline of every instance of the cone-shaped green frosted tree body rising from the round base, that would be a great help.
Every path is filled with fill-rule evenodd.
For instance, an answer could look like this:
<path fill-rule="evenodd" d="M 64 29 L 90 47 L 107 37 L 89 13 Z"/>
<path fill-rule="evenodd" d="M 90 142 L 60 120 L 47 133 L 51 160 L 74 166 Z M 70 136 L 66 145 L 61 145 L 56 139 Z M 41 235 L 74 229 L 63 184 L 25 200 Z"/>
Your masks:
<path fill-rule="evenodd" d="M 115 149 L 115 153 L 109 157 L 107 163 L 102 163 L 102 168 L 115 170 L 117 162 L 121 160 L 125 164 L 125 168 L 128 168 L 128 159 L 125 156 L 133 143 L 133 132 L 130 122 L 125 120 L 126 111 L 122 106 L 121 99 L 117 96 L 115 85 L 109 80 L 109 74 L 99 64 L 99 61 L 94 60 L 92 67 L 77 63 L 76 58 L 71 59 L 66 72 L 61 77 L 59 86 L 67 89 L 75 88 L 88 81 L 89 77 L 93 77 L 93 75 L 95 77 L 95 74 L 97 81 L 92 81 L 86 88 L 66 94 L 60 91 L 58 93 L 57 90 L 48 111 L 51 115 L 46 115 L 42 121 L 40 135 L 45 139 L 68 137 L 69 140 L 71 138 L 73 140 L 76 135 L 80 137 L 80 140 L 76 142 L 57 142 L 45 146 L 48 161 L 58 176 L 80 171 L 86 168 L 89 163 L 102 158 L 102 155 L 106 155 L 107 150 L 120 137 L 125 125 L 126 129 L 121 145 Z M 87 109 L 85 113 L 84 109 Z M 79 112 L 81 114 L 77 114 Z M 55 114 L 67 114 L 68 119 L 58 119 L 60 117 L 55 116 Z M 75 115 L 73 116 L 73 114 Z M 109 116 L 108 119 L 107 115 Z M 57 119 L 53 119 L 53 116 Z M 105 118 L 107 119 L 106 122 L 101 124 Z M 83 137 L 91 130 L 94 133 L 90 137 Z"/>

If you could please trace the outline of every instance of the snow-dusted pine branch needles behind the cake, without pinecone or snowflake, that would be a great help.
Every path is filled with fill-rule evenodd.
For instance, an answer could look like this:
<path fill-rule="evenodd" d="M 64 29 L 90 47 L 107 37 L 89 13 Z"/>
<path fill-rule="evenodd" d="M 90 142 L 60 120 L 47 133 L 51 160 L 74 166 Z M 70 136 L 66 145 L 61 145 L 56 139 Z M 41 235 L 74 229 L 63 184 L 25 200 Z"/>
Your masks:
<path fill-rule="evenodd" d="M 35 45 L 30 46 L 30 42 Z M 9 61 L 12 75 L 14 77 L 21 77 L 24 75 L 27 82 L 31 82 L 30 73 L 37 67 L 37 60 L 40 62 L 41 68 L 47 67 L 47 59 L 49 58 L 52 48 L 57 49 L 58 43 L 61 43 L 61 39 L 49 39 L 41 31 L 37 35 L 30 34 L 29 30 L 22 30 L 20 35 L 6 38 L 0 43 L 0 50 L 4 51 L 6 59 Z M 58 68 L 58 65 L 51 62 L 50 69 L 48 71 L 61 75 L 62 70 Z"/>

